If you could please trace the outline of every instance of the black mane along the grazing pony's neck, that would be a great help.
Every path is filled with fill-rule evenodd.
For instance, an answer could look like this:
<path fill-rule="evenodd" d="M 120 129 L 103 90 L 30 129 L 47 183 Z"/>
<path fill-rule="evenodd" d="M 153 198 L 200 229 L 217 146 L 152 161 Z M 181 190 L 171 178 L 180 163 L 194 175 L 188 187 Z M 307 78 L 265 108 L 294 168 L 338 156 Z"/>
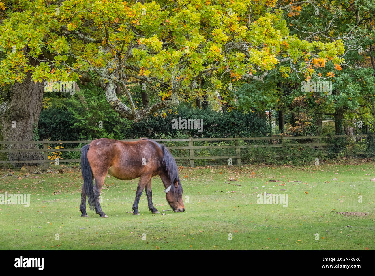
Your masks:
<path fill-rule="evenodd" d="M 159 146 L 159 148 L 162 150 L 163 160 L 160 160 L 160 161 L 163 165 L 163 169 L 164 169 L 166 175 L 168 176 L 169 182 L 171 183 L 171 192 L 177 193 L 178 195 L 182 195 L 183 189 L 182 189 L 182 186 L 181 186 L 180 178 L 178 177 L 177 164 L 176 164 L 176 161 L 174 160 L 171 152 L 169 152 L 169 150 L 166 148 L 166 146 L 160 145 L 159 143 L 157 143 L 157 142 L 155 142 L 151 139 L 141 138 L 141 140 L 150 140 L 151 142 L 153 142 L 157 146 Z M 177 188 L 174 186 L 174 183 L 176 181 L 178 182 Z"/>

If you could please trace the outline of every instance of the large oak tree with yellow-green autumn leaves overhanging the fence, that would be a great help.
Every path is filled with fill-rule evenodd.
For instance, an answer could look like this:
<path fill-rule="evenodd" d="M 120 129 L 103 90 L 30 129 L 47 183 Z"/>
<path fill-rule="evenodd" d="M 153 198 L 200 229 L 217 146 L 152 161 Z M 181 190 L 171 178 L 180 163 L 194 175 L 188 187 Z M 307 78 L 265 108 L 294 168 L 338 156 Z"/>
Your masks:
<path fill-rule="evenodd" d="M 282 12 L 290 4 L 275 5 L 249 0 L 5 1 L 0 6 L 0 51 L 5 53 L 0 82 L 15 87 L 2 92 L 8 93 L 1 107 L 2 139 L 32 138 L 31 125 L 37 124 L 41 108 L 37 89 L 45 80 L 92 81 L 105 90 L 115 112 L 138 122 L 177 106 L 194 93 L 199 80 L 206 108 L 215 95 L 206 87 L 220 89 L 223 75 L 263 82 L 275 69 L 309 76 L 314 73 L 309 65 L 319 57 L 343 62 L 340 39 L 309 42 L 290 35 Z M 139 83 L 143 100 L 137 104 L 129 87 Z M 10 93 L 20 85 L 29 94 Z M 33 119 L 21 123 L 27 135 L 9 136 L 10 117 L 22 121 L 14 115 L 19 106 L 30 107 Z"/>

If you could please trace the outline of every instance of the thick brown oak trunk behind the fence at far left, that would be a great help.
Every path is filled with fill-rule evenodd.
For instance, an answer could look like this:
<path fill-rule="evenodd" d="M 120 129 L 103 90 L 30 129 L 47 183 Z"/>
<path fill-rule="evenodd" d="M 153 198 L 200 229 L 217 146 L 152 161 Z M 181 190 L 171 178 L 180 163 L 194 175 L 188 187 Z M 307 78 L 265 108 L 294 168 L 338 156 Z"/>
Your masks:
<path fill-rule="evenodd" d="M 30 65 L 36 66 L 34 60 Z M 37 129 L 40 111 L 42 110 L 43 85 L 31 79 L 31 73 L 26 73 L 22 83 L 15 83 L 10 89 L 9 99 L 0 106 L 0 140 L 1 141 L 32 141 L 34 128 Z M 2 149 L 37 149 L 35 144 L 5 144 Z M 41 152 L 9 152 L 7 159 L 43 160 Z M 38 163 L 24 163 L 28 166 Z M 23 164 L 14 164 L 22 166 Z"/>

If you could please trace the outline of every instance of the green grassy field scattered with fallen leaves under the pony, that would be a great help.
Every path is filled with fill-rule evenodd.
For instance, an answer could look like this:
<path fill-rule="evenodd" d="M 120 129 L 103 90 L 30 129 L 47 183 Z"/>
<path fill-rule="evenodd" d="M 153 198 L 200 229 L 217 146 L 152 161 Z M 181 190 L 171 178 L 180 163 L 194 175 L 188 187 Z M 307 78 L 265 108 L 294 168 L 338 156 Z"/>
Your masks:
<path fill-rule="evenodd" d="M 102 190 L 106 219 L 90 210 L 90 217 L 80 216 L 83 179 L 77 168 L 54 167 L 63 172 L 28 177 L 34 167 L 0 170 L 0 177 L 9 172 L 18 176 L 0 179 L 0 194 L 30 194 L 30 207 L 0 205 L 0 249 L 373 250 L 374 167 L 375 163 L 183 168 L 186 211 L 162 212 L 170 207 L 155 177 L 153 203 L 164 214 L 148 211 L 144 192 L 141 216 L 126 213 L 132 211 L 138 179 L 107 177 Z M 288 206 L 257 204 L 264 192 L 285 194 Z"/>

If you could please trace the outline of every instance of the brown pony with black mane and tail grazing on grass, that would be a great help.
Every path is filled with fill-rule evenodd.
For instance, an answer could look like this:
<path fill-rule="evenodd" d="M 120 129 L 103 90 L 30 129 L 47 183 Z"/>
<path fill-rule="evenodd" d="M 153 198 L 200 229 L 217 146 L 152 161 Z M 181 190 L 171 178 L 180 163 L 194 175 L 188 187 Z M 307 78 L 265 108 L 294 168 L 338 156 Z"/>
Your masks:
<path fill-rule="evenodd" d="M 178 177 L 176 162 L 168 149 L 150 139 L 136 142 L 121 142 L 101 138 L 92 141 L 81 149 L 83 185 L 80 211 L 86 213 L 86 195 L 90 209 L 101 217 L 108 217 L 102 211 L 99 195 L 107 173 L 115 178 L 129 180 L 139 177 L 133 203 L 133 215 L 139 215 L 138 203 L 143 189 L 146 190 L 148 209 L 159 213 L 152 204 L 151 178 L 159 175 L 163 181 L 166 200 L 173 211 L 184 212 L 182 187 Z M 95 186 L 93 180 L 95 178 Z"/>

